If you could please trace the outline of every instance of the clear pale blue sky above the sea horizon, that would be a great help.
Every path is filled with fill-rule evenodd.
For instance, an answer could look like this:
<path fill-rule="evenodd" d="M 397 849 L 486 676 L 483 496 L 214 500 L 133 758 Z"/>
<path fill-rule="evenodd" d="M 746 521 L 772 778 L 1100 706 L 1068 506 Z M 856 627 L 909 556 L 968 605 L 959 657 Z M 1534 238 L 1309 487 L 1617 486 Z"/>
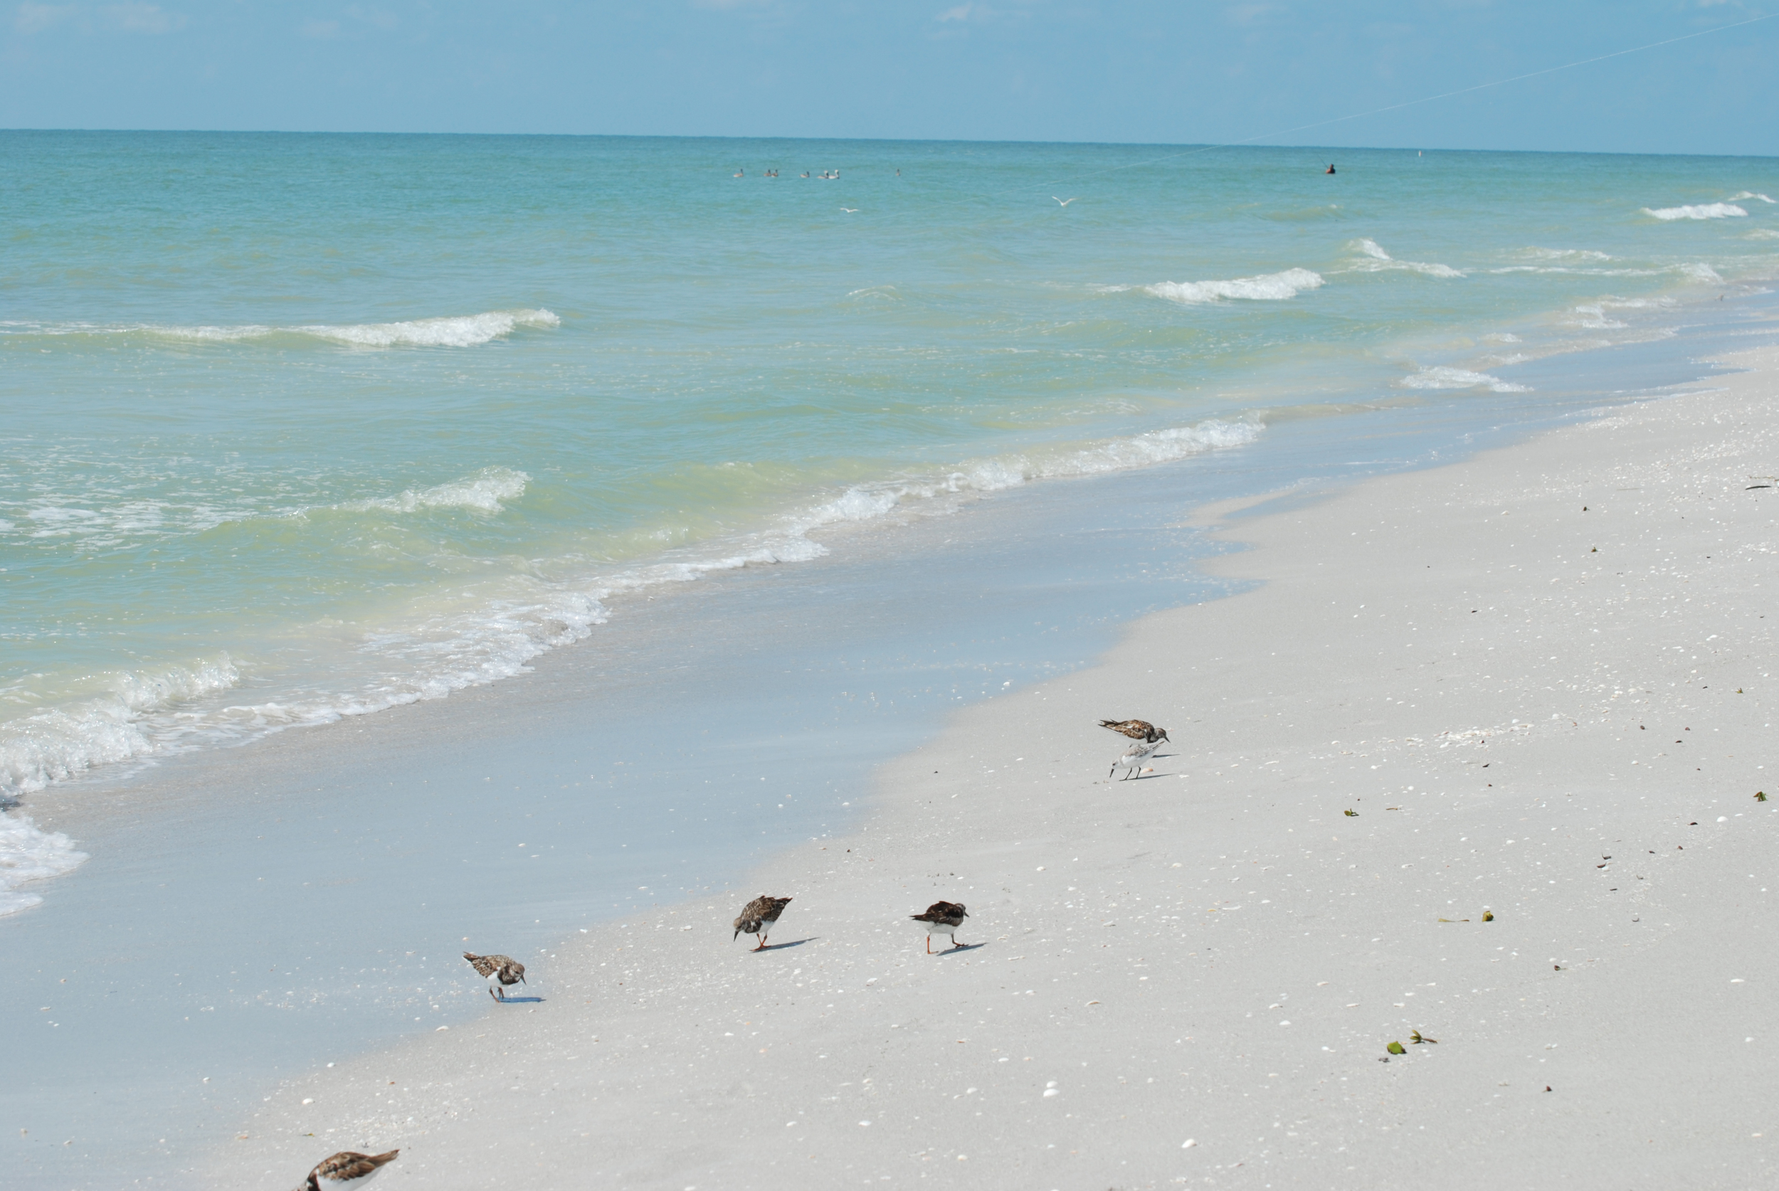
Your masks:
<path fill-rule="evenodd" d="M 0 0 L 0 128 L 1772 156 L 1775 62 L 1779 0 Z"/>

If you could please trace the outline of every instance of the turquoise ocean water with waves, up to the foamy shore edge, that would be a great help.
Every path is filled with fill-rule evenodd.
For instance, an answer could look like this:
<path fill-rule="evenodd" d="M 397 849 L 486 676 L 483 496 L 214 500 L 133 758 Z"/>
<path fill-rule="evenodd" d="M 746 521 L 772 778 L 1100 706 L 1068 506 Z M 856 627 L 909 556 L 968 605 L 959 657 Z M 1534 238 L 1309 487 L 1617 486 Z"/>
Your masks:
<path fill-rule="evenodd" d="M 1329 156 L 0 133 L 0 914 L 82 859 L 52 782 L 996 491 L 1525 407 L 1779 276 L 1772 160 Z"/>

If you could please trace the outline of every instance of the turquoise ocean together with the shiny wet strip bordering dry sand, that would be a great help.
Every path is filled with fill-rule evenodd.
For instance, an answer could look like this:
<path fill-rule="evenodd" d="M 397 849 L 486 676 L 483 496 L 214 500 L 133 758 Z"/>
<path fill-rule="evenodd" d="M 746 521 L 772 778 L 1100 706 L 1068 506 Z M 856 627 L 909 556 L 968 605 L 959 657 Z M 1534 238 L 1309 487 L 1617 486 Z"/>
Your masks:
<path fill-rule="evenodd" d="M 5 1102 L 82 1136 L 21 1159 L 57 1187 L 187 1170 L 279 1072 L 479 1011 L 459 928 L 548 955 L 843 827 L 950 706 L 1226 590 L 1183 510 L 1690 380 L 1770 338 L 1779 276 L 1763 158 L 0 162 L 0 946 L 44 1026 Z"/>

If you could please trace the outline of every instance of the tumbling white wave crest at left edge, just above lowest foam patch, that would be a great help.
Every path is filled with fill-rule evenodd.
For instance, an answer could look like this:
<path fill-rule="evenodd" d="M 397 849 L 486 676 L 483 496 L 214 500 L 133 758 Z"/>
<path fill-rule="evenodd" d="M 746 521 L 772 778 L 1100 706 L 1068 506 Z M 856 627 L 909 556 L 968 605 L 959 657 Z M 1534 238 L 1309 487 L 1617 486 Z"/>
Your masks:
<path fill-rule="evenodd" d="M 30 793 L 98 764 L 171 752 L 199 727 L 180 722 L 174 709 L 238 681 L 235 663 L 221 654 L 149 674 L 116 674 L 103 695 L 0 722 L 0 795 Z"/>

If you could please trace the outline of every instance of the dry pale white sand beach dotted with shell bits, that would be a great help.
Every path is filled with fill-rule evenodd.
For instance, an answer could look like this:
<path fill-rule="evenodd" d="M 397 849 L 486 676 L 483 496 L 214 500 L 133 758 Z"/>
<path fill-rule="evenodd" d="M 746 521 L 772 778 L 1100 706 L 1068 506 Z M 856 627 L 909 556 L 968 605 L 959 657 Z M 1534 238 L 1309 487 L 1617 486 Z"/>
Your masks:
<path fill-rule="evenodd" d="M 1752 1180 L 1779 350 L 1736 363 L 1235 517 L 1215 569 L 1263 587 L 959 711 L 863 830 L 592 928 L 541 1003 L 279 1086 L 199 1182 L 366 1147 L 439 1189 Z M 1176 747 L 1108 784 L 1126 715 Z M 761 891 L 795 901 L 747 955 Z M 927 956 L 938 898 L 986 946 Z"/>

